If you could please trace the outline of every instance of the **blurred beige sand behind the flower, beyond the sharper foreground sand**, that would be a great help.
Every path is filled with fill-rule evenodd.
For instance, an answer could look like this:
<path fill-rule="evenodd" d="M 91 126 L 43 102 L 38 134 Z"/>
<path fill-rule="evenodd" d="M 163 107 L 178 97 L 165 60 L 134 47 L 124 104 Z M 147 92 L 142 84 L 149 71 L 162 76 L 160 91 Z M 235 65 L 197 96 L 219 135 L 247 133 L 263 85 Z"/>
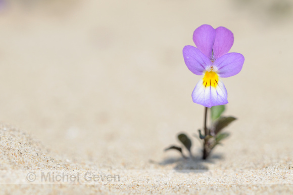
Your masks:
<path fill-rule="evenodd" d="M 176 133 L 203 125 L 191 99 L 200 76 L 182 57 L 202 24 L 230 29 L 230 52 L 246 58 L 223 79 L 238 121 L 217 151 L 289 156 L 290 0 L 0 0 L 0 121 L 75 162 L 137 167 L 176 155 L 163 153 Z"/>

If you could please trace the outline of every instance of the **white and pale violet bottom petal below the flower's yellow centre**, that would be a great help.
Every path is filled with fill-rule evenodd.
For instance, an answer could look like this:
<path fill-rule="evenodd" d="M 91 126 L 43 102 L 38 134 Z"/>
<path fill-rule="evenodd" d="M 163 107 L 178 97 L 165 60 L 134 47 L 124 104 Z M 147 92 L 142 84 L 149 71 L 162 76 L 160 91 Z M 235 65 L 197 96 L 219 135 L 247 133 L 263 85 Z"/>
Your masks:
<path fill-rule="evenodd" d="M 201 79 L 194 88 L 191 97 L 194 103 L 209 108 L 228 103 L 227 90 L 221 80 L 218 81 L 217 87 L 205 87 L 203 85 L 203 79 Z"/>

